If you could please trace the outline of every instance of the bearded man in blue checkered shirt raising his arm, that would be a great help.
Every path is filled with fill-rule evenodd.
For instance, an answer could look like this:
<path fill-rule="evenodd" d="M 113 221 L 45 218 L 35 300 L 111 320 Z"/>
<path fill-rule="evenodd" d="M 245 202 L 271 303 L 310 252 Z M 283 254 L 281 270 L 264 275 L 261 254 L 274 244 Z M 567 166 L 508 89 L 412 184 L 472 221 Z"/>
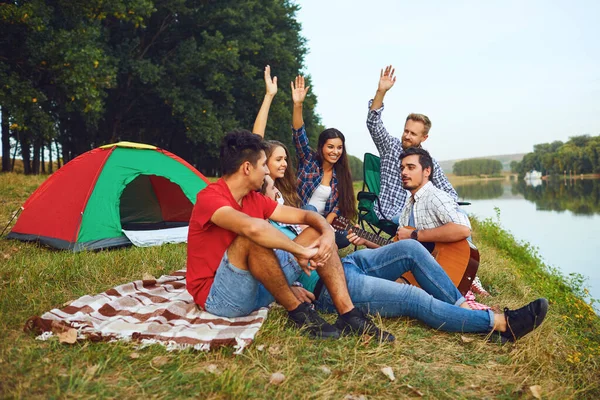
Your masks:
<path fill-rule="evenodd" d="M 421 143 L 427 139 L 431 121 L 423 114 L 410 114 L 406 118 L 402 140 L 390 136 L 383 126 L 381 113 L 383 112 L 383 98 L 390 90 L 396 77 L 394 69 L 388 66 L 381 71 L 379 85 L 375 98 L 370 101 L 369 115 L 367 117 L 367 128 L 375 142 L 375 146 L 381 157 L 381 192 L 379 201 L 381 209 L 375 207 L 377 216 L 381 219 L 395 220 L 406 203 L 408 192 L 402 187 L 400 180 L 400 156 L 410 147 L 421 147 Z M 444 172 L 433 160 L 433 174 L 430 177 L 433 185 L 447 192 L 456 202 L 458 194 L 444 175 Z"/>

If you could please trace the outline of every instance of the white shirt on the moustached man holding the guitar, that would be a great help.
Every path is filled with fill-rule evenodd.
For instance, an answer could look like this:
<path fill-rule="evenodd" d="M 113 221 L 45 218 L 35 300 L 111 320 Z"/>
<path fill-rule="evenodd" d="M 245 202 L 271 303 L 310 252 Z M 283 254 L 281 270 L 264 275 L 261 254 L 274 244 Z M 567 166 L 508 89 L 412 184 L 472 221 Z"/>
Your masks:
<path fill-rule="evenodd" d="M 411 210 L 415 218 L 414 228 L 417 229 L 433 229 L 449 222 L 471 229 L 469 218 L 458 209 L 456 201 L 431 182 L 427 182 L 406 202 L 400 215 L 400 226 L 409 225 Z"/>

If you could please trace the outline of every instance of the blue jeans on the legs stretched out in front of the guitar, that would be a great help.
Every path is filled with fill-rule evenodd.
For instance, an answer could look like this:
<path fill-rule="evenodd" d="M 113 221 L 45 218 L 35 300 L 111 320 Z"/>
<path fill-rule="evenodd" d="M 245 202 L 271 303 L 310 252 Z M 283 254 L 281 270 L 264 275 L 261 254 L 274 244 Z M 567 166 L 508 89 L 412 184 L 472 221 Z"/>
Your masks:
<path fill-rule="evenodd" d="M 468 310 L 458 289 L 429 252 L 415 240 L 400 240 L 374 250 L 360 250 L 342 259 L 346 282 L 356 307 L 383 317 L 408 316 L 434 329 L 449 332 L 489 332 L 494 313 Z M 396 283 L 411 271 L 421 286 Z M 316 301 L 318 309 L 334 312 L 327 289 Z"/>

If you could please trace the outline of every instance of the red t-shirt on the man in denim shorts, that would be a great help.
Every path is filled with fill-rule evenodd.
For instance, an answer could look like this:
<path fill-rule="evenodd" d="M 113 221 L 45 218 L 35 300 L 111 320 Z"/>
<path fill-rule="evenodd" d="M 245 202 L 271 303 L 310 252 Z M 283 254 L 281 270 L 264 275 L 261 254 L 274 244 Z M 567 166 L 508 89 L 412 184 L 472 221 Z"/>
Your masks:
<path fill-rule="evenodd" d="M 237 233 L 210 221 L 221 207 L 232 207 L 253 218 L 268 219 L 277 202 L 260 193 L 250 192 L 242 199 L 240 207 L 223 179 L 198 193 L 188 231 L 186 282 L 188 292 L 201 307 L 204 307 L 225 251 L 237 237 Z"/>

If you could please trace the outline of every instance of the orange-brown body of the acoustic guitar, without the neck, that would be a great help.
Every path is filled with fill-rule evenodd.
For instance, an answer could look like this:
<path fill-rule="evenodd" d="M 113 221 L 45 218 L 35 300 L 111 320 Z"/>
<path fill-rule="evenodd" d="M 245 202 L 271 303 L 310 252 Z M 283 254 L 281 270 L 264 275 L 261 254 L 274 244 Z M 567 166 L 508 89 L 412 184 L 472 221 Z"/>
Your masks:
<path fill-rule="evenodd" d="M 464 296 L 471 288 L 479 268 L 479 251 L 466 239 L 453 243 L 422 243 L 446 271 L 458 291 Z M 411 272 L 402 275 L 411 285 L 419 286 Z"/>

